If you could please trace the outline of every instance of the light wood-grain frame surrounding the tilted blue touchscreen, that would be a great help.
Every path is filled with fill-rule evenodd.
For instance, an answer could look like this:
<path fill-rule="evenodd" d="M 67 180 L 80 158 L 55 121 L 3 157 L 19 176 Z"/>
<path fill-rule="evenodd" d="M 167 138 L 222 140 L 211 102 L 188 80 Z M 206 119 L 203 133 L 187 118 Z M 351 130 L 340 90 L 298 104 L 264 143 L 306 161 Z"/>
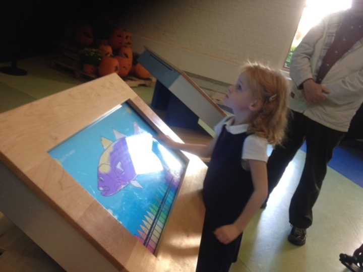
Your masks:
<path fill-rule="evenodd" d="M 189 161 L 185 178 L 153 255 L 48 155 L 128 100 L 154 129 L 181 141 L 112 74 L 0 114 L 0 160 L 117 269 L 194 271 L 204 218 L 200 190 L 207 169 L 199 158 L 184 154 Z"/>

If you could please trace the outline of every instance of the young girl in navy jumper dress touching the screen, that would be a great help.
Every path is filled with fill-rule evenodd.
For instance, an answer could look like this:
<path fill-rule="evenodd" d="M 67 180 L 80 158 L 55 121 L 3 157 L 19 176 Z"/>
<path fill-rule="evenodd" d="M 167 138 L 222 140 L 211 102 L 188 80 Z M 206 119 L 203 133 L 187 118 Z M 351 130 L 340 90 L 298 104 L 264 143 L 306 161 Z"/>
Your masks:
<path fill-rule="evenodd" d="M 173 149 L 211 156 L 204 180 L 206 207 L 197 271 L 228 271 L 237 260 L 242 233 L 267 197 L 267 144 L 278 145 L 286 125 L 287 83 L 277 71 L 246 64 L 224 104 L 233 115 L 215 127 L 209 145 L 176 143 Z"/>

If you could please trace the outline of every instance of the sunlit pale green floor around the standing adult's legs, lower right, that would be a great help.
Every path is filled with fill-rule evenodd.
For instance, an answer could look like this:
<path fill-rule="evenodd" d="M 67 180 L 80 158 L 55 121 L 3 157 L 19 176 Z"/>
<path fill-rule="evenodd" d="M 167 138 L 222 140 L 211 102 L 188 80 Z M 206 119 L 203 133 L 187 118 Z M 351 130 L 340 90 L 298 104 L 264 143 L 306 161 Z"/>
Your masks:
<path fill-rule="evenodd" d="M 307 244 L 296 247 L 287 241 L 289 202 L 304 160 L 305 153 L 298 151 L 270 195 L 266 210 L 246 229 L 231 272 L 342 272 L 345 267 L 339 262 L 339 253 L 352 253 L 363 243 L 363 189 L 331 168 L 314 207 Z"/>

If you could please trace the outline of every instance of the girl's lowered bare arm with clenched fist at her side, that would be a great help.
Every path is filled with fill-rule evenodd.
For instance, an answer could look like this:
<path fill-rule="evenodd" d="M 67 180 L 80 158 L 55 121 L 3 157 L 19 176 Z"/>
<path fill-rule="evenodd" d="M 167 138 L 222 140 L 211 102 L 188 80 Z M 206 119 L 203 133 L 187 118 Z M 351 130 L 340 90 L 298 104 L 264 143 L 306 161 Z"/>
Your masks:
<path fill-rule="evenodd" d="M 217 239 L 228 244 L 241 234 L 252 217 L 260 209 L 262 203 L 267 198 L 267 167 L 266 162 L 249 160 L 254 192 L 252 193 L 244 211 L 240 214 L 237 220 L 231 225 L 225 225 L 215 230 Z"/>

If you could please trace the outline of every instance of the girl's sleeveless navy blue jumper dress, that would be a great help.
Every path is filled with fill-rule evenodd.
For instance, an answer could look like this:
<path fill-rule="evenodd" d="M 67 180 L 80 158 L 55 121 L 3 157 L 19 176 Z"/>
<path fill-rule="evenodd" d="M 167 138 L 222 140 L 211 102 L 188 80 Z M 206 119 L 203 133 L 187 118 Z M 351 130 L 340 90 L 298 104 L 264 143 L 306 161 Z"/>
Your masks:
<path fill-rule="evenodd" d="M 197 272 L 228 271 L 237 260 L 242 234 L 225 245 L 214 231 L 232 224 L 245 208 L 254 190 L 251 172 L 241 166 L 247 132 L 232 134 L 223 125 L 204 180 L 206 207 Z"/>

